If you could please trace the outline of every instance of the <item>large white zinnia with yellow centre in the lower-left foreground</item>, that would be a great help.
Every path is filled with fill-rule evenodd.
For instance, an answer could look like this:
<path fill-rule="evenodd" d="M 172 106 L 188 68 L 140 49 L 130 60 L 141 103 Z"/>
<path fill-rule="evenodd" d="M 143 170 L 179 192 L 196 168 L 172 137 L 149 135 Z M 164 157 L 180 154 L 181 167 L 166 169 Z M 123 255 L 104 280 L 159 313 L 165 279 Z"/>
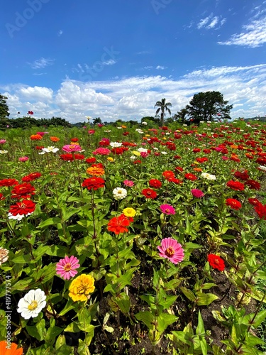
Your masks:
<path fill-rule="evenodd" d="M 25 320 L 37 317 L 46 305 L 45 299 L 45 293 L 40 288 L 31 290 L 18 301 L 18 313 L 21 313 L 21 317 Z"/>

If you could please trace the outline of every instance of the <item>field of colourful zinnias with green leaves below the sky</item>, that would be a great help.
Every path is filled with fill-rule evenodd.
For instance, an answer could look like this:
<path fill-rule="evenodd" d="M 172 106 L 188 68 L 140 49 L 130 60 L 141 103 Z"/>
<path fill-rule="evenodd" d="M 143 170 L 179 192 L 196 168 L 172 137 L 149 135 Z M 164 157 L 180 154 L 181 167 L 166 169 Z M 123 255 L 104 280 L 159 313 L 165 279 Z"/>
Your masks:
<path fill-rule="evenodd" d="M 6 129 L 0 167 L 0 355 L 265 354 L 261 122 Z"/>

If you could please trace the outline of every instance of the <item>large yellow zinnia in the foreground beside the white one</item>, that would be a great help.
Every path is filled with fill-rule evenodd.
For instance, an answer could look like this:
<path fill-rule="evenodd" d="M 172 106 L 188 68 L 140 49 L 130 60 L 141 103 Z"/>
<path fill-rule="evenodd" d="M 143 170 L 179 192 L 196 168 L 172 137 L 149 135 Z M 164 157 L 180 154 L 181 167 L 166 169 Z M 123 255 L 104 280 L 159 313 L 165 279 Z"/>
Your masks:
<path fill-rule="evenodd" d="M 93 293 L 95 289 L 94 278 L 91 275 L 79 275 L 70 284 L 69 296 L 74 302 L 87 301 L 89 293 Z"/>

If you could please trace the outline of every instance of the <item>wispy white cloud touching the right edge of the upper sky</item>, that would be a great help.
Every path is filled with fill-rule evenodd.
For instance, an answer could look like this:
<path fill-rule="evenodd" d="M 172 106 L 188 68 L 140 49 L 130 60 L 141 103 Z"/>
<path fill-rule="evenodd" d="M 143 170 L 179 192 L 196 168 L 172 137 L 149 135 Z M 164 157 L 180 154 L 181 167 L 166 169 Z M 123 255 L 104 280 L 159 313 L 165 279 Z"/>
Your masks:
<path fill-rule="evenodd" d="M 266 43 L 266 16 L 251 20 L 243 26 L 243 32 L 235 33 L 228 40 L 218 42 L 220 45 L 244 45 L 251 48 L 260 47 L 264 43 Z"/>

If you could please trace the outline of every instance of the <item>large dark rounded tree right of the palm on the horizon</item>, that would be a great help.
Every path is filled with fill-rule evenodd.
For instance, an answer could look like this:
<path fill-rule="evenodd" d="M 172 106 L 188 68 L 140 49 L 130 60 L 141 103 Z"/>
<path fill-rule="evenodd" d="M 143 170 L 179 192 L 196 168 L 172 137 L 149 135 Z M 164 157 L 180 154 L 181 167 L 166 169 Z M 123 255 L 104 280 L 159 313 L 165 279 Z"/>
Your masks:
<path fill-rule="evenodd" d="M 217 91 L 199 92 L 186 106 L 187 113 L 194 123 L 199 121 L 214 121 L 214 119 L 231 119 L 229 116 L 233 105 L 223 99 L 223 94 Z"/>

